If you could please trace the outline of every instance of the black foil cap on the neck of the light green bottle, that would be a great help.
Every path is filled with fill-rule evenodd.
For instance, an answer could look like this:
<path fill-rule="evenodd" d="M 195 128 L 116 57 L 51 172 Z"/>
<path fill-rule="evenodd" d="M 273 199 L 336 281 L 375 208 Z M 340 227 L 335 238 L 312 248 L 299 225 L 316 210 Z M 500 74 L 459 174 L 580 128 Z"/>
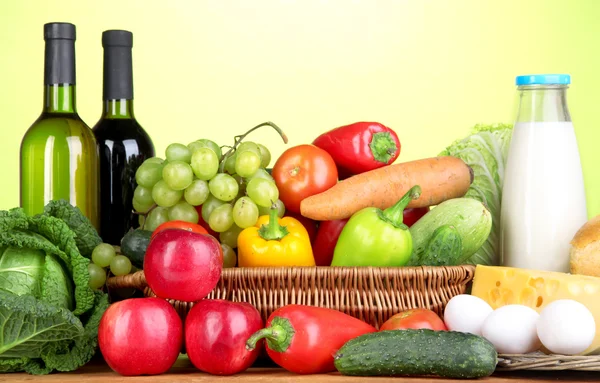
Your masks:
<path fill-rule="evenodd" d="M 44 24 L 44 85 L 75 85 L 75 25 Z"/>

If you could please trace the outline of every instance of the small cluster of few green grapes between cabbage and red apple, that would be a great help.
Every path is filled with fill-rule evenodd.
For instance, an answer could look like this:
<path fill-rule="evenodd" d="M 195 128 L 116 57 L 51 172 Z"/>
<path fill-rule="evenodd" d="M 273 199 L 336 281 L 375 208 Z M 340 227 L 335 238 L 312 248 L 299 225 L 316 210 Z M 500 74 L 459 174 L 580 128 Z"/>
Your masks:
<path fill-rule="evenodd" d="M 129 258 L 124 255 L 117 255 L 112 245 L 101 243 L 92 251 L 92 262 L 88 265 L 89 286 L 92 289 L 99 289 L 104 286 L 107 268 L 114 275 L 126 275 L 131 272 L 132 265 Z"/>

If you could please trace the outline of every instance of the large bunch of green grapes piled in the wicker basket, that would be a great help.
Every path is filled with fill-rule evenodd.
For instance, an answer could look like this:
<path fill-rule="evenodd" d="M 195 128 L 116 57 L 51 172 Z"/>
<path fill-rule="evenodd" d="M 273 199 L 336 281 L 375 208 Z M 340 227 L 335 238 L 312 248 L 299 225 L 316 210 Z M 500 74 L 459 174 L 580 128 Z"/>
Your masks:
<path fill-rule="evenodd" d="M 198 223 L 200 217 L 220 233 L 220 241 L 237 247 L 237 236 L 268 214 L 272 203 L 285 208 L 266 170 L 271 153 L 262 144 L 244 141 L 223 154 L 213 141 L 174 143 L 166 159 L 147 159 L 136 172 L 133 207 L 140 225 L 154 230 L 167 221 Z"/>

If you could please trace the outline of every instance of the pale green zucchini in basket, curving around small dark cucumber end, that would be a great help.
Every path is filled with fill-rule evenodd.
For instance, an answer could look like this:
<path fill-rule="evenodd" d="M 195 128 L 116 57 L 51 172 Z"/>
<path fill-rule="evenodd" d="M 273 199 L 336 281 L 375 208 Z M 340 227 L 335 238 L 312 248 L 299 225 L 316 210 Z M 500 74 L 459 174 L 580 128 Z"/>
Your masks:
<path fill-rule="evenodd" d="M 444 225 L 454 226 L 460 234 L 462 254 L 456 260 L 456 264 L 460 265 L 487 240 L 492 230 L 492 215 L 483 203 L 472 198 L 453 198 L 442 202 L 411 226 L 413 252 L 408 265 L 421 265 L 434 231 Z"/>

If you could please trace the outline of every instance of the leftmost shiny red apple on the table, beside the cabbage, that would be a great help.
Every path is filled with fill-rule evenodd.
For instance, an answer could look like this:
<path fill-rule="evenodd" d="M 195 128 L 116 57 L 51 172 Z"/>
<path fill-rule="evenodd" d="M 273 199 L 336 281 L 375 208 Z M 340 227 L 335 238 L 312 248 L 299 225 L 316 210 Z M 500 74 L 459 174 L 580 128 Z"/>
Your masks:
<path fill-rule="evenodd" d="M 183 323 L 167 301 L 133 298 L 112 304 L 100 319 L 98 344 L 110 368 L 124 376 L 169 370 L 181 350 Z"/>

